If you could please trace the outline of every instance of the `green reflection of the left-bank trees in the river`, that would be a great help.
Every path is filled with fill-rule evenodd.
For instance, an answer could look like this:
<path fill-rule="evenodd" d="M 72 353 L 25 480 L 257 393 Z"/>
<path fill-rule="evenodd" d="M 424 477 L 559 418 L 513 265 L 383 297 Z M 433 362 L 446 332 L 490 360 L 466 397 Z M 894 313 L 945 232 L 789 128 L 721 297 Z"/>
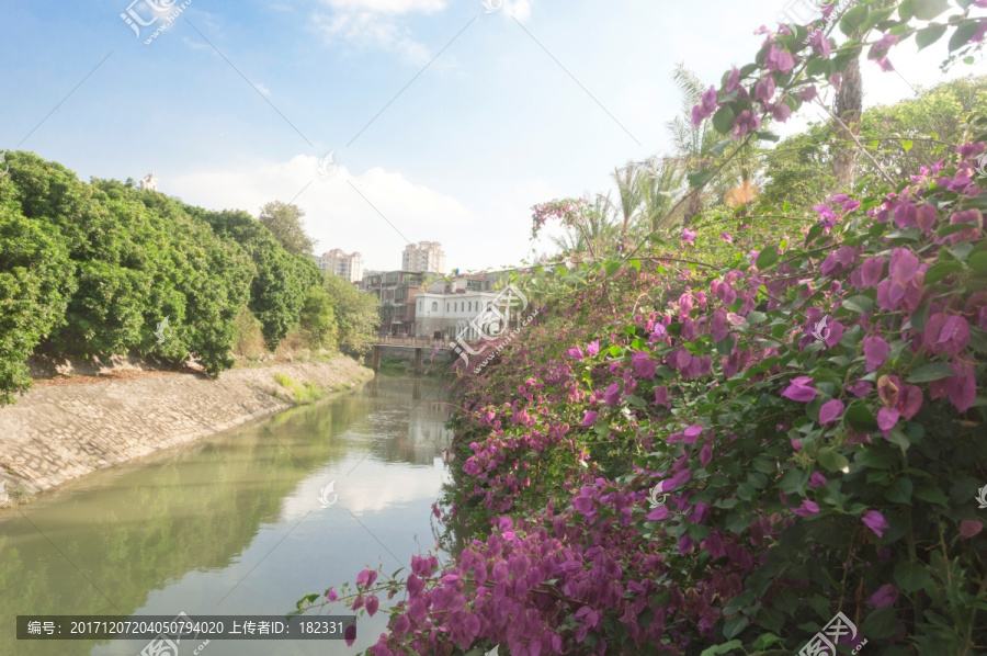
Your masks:
<path fill-rule="evenodd" d="M 367 399 L 359 396 L 336 398 L 98 474 L 101 479 L 88 479 L 92 487 L 72 497 L 43 497 L 25 514 L 65 557 L 32 523 L 5 513 L 0 617 L 131 614 L 151 590 L 189 572 L 229 566 L 261 524 L 277 521 L 282 499 L 309 468 L 347 455 L 347 442 L 333 436 L 366 409 Z M 95 644 L 59 642 L 56 652 L 89 654 Z M 11 632 L 0 633 L 0 654 L 52 653 L 52 643 L 16 643 Z"/>

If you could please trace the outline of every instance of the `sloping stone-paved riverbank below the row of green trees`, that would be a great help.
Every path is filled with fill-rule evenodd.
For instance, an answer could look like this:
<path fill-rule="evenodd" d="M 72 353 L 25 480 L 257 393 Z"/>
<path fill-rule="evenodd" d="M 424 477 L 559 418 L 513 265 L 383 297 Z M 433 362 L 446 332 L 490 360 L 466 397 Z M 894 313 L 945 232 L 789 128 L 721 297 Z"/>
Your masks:
<path fill-rule="evenodd" d="M 0 502 L 353 388 L 373 372 L 345 357 L 225 371 L 39 385 L 0 408 Z"/>

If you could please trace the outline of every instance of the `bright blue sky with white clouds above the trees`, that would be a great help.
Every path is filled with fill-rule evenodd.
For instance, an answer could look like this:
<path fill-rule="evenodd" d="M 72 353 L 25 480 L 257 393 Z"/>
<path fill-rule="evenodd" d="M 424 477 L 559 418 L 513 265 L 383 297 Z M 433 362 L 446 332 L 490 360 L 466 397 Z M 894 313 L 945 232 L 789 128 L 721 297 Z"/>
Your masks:
<path fill-rule="evenodd" d="M 718 81 L 789 4 L 191 0 L 145 44 L 162 21 L 137 37 L 131 1 L 3 0 L 0 149 L 86 181 L 154 170 L 163 193 L 254 216 L 295 199 L 319 252 L 397 269 L 405 244 L 436 240 L 463 270 L 520 262 L 531 205 L 662 152 L 674 65 Z M 867 104 L 943 79 L 941 48 L 914 47 L 900 76 L 867 66 Z"/>

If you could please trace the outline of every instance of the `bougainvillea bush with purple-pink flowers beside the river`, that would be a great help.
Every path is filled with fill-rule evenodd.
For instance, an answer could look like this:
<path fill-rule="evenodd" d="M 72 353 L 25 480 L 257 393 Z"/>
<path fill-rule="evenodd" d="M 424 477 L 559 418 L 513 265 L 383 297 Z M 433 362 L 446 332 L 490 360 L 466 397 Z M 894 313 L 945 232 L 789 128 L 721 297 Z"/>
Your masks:
<path fill-rule="evenodd" d="M 742 142 L 848 52 L 890 66 L 917 30 L 961 54 L 987 31 L 984 2 L 942 30 L 945 2 L 888 4 L 768 33 L 695 120 Z M 833 24 L 881 34 L 837 47 Z M 919 176 L 818 199 L 778 244 L 727 235 L 722 267 L 685 230 L 524 281 L 540 325 L 455 386 L 450 561 L 326 600 L 396 600 L 378 656 L 830 654 L 813 641 L 837 613 L 839 653 L 985 653 L 985 127 Z"/>

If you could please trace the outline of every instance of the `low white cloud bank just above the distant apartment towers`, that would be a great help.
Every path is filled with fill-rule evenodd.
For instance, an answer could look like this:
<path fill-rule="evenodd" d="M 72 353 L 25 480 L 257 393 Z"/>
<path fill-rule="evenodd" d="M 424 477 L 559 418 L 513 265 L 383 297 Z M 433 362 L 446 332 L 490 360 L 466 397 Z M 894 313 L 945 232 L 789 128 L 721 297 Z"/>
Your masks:
<path fill-rule="evenodd" d="M 247 210 L 254 216 L 264 203 L 297 196 L 294 202 L 305 211 L 306 229 L 318 241 L 317 252 L 359 250 L 366 269 L 397 269 L 409 241 L 444 241 L 443 236 L 479 226 L 458 200 L 399 172 L 376 167 L 354 174 L 339 166 L 331 178 L 322 178 L 318 167 L 317 157 L 298 155 L 290 161 L 257 162 L 237 170 L 205 170 L 170 179 L 162 174 L 159 189 L 194 205 Z"/>

